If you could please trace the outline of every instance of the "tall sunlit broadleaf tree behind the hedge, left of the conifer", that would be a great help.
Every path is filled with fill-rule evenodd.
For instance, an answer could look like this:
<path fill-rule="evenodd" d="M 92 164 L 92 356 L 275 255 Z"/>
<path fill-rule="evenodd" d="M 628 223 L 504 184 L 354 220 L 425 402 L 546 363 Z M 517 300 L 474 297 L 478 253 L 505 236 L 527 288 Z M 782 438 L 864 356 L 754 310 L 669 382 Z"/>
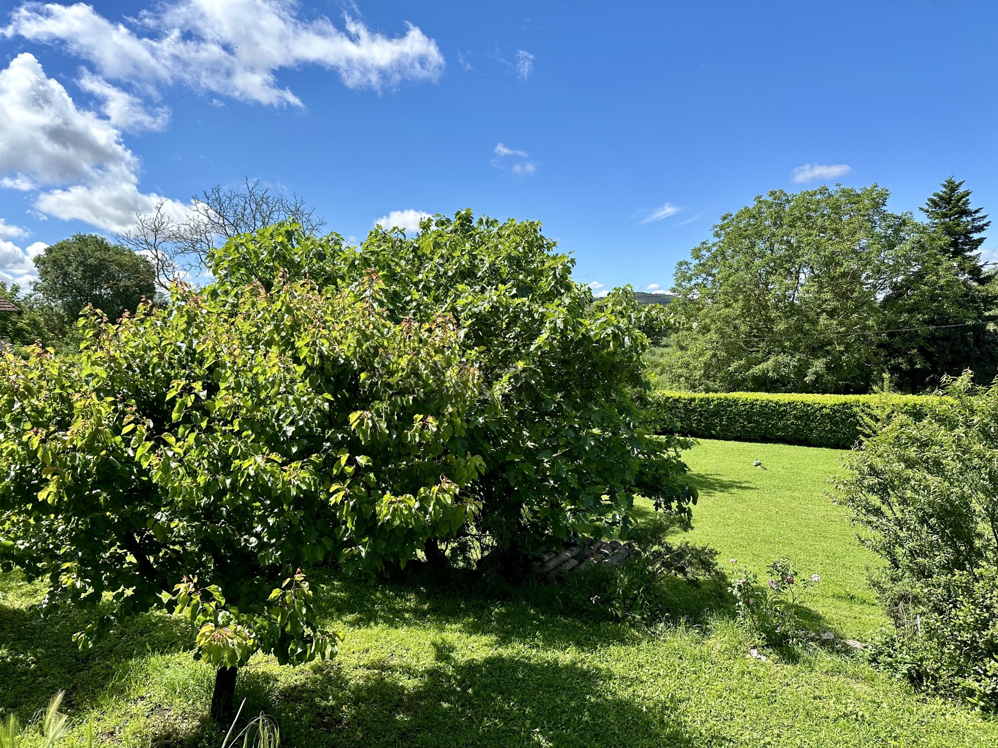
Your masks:
<path fill-rule="evenodd" d="M 865 392 L 882 357 L 870 333 L 898 249 L 917 225 L 880 187 L 755 198 L 676 268 L 679 326 L 665 379 L 706 391 Z"/>

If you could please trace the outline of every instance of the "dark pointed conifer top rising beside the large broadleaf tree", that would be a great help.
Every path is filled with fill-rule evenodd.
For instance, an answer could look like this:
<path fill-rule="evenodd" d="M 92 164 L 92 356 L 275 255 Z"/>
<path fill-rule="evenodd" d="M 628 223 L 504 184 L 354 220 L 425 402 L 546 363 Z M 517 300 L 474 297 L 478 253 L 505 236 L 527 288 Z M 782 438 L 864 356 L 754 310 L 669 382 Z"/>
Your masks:
<path fill-rule="evenodd" d="M 929 225 L 946 238 L 949 253 L 961 273 L 975 283 L 986 283 L 990 276 L 984 272 L 978 250 L 991 221 L 981 214 L 983 208 L 970 206 L 970 190 L 960 188 L 962 181 L 948 177 L 940 187 L 929 195 L 925 207 L 919 209 L 928 216 Z"/>

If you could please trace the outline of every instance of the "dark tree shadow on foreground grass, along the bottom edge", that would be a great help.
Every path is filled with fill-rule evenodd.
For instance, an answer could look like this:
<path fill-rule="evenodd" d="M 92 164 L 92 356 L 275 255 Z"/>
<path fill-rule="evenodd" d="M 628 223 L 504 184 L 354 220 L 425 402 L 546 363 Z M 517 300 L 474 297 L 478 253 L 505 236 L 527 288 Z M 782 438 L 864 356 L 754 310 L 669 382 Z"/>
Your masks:
<path fill-rule="evenodd" d="M 350 671 L 325 663 L 291 682 L 240 677 L 248 704 L 278 719 L 284 748 L 695 745 L 668 697 L 629 698 L 619 674 L 551 657 L 460 661 L 440 642 L 418 667 L 382 659 Z"/>

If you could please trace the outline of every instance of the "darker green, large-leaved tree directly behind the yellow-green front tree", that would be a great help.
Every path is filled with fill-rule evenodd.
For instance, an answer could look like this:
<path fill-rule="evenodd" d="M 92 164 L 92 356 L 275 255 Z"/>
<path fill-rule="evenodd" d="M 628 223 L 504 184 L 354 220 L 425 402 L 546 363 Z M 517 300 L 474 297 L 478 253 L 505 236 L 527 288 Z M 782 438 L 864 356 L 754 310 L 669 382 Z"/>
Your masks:
<path fill-rule="evenodd" d="M 627 523 L 635 495 L 681 515 L 695 501 L 680 460 L 687 442 L 653 436 L 635 405 L 648 339 L 632 294 L 594 304 L 538 222 L 463 210 L 425 219 L 415 236 L 375 229 L 359 247 L 277 224 L 233 239 L 209 264 L 222 287 L 266 288 L 281 271 L 354 287 L 373 272 L 391 319 L 455 320 L 482 379 L 465 437 L 484 461 L 466 488 L 482 507 L 463 533 L 477 555 L 520 567 L 551 536 Z"/>

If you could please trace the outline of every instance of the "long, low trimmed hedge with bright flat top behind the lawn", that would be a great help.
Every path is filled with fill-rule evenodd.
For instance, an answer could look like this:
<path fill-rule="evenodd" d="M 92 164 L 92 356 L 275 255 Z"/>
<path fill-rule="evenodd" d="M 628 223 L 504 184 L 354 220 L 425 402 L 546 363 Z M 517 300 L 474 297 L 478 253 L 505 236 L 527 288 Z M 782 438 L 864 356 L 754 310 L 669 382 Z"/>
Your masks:
<path fill-rule="evenodd" d="M 877 405 L 915 419 L 942 400 L 936 395 L 797 395 L 765 392 L 671 392 L 649 395 L 652 424 L 674 433 L 735 442 L 782 442 L 848 449 L 864 415 Z"/>

